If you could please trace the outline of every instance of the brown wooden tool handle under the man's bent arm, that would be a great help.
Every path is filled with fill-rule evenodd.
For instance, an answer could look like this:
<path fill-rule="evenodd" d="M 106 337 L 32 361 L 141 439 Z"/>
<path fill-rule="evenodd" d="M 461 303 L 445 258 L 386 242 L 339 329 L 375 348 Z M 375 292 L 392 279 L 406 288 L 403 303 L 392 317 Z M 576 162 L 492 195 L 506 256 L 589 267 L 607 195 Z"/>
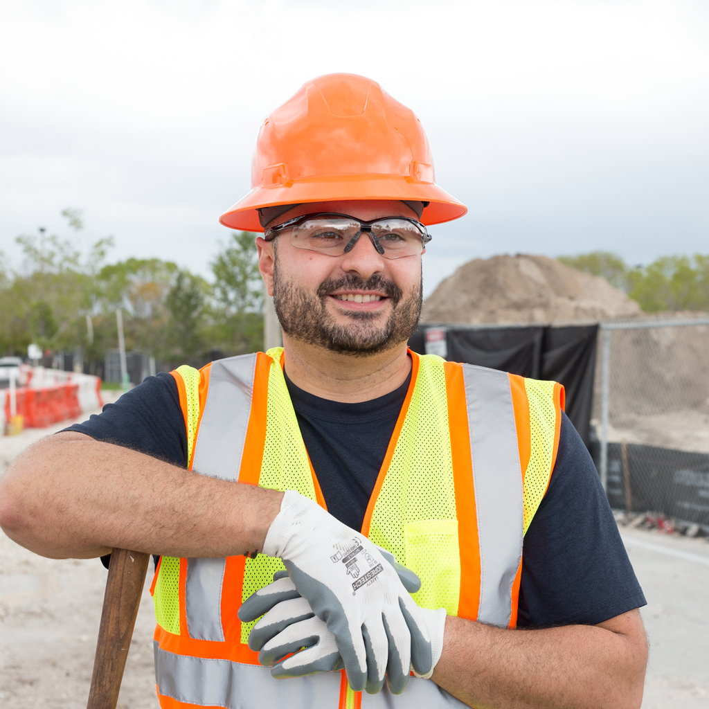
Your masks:
<path fill-rule="evenodd" d="M 116 709 L 150 554 L 113 549 L 86 709 Z"/>

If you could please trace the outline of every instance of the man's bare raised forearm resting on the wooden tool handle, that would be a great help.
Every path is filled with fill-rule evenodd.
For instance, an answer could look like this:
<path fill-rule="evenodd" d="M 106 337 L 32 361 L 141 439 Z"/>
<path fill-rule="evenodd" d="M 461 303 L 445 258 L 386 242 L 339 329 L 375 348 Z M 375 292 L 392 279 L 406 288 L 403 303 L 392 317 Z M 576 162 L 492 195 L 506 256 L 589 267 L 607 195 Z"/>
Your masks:
<path fill-rule="evenodd" d="M 227 557 L 261 549 L 281 496 L 67 433 L 30 447 L 0 480 L 0 525 L 47 557 L 114 547 Z"/>

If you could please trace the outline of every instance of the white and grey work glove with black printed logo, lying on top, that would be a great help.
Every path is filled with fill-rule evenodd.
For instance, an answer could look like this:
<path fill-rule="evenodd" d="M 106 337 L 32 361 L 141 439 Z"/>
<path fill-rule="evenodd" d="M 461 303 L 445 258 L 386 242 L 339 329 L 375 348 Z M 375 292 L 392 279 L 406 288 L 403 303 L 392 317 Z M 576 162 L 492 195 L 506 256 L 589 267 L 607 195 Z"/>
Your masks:
<path fill-rule="evenodd" d="M 386 675 L 389 689 L 401 693 L 410 665 L 418 674 L 430 672 L 431 642 L 422 609 L 367 537 L 289 490 L 263 553 L 283 559 L 294 586 L 291 593 L 306 598 L 335 636 L 354 691 L 375 693 Z M 258 618 L 281 600 L 281 594 L 261 589 L 242 604 L 239 618 Z"/>

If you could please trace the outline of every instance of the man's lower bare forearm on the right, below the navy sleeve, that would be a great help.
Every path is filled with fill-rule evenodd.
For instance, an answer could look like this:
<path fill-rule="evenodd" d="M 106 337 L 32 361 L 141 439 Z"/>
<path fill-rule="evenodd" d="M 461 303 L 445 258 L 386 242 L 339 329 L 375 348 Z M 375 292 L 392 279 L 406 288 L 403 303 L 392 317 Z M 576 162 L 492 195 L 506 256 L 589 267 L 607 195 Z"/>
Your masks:
<path fill-rule="evenodd" d="M 646 662 L 637 610 L 601 625 L 547 630 L 449 616 L 432 679 L 478 709 L 637 708 Z"/>

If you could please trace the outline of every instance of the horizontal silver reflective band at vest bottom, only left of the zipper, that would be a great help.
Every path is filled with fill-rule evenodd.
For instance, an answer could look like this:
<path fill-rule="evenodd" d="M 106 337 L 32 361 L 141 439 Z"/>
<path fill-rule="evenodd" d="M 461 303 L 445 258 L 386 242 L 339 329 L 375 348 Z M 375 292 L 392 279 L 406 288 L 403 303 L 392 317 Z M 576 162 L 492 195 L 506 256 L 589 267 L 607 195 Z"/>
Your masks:
<path fill-rule="evenodd" d="M 273 679 L 267 667 L 177 655 L 155 648 L 158 693 L 179 702 L 226 709 L 337 709 L 340 673 Z"/>

